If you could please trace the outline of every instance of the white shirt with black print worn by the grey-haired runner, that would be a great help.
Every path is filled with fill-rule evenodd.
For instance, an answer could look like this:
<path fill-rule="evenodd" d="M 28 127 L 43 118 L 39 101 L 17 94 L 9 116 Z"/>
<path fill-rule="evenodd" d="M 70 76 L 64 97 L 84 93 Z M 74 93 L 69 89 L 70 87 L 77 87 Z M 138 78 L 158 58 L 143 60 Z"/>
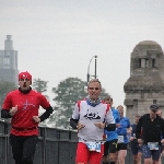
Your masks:
<path fill-rule="evenodd" d="M 104 129 L 99 129 L 95 122 L 115 124 L 115 119 L 110 109 L 107 109 L 107 104 L 99 103 L 95 107 L 89 105 L 86 101 L 77 103 L 73 114 L 73 119 L 79 119 L 79 124 L 85 127 L 78 132 L 79 141 L 103 141 Z"/>

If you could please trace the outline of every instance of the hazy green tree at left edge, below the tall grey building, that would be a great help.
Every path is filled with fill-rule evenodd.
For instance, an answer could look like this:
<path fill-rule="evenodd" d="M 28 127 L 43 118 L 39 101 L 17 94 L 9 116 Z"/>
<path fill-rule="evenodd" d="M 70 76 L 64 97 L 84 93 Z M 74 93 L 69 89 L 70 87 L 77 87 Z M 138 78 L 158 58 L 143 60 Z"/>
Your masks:
<path fill-rule="evenodd" d="M 2 105 L 5 95 L 10 91 L 15 90 L 15 89 L 16 87 L 15 87 L 14 83 L 7 82 L 7 81 L 0 81 L 0 105 Z"/>

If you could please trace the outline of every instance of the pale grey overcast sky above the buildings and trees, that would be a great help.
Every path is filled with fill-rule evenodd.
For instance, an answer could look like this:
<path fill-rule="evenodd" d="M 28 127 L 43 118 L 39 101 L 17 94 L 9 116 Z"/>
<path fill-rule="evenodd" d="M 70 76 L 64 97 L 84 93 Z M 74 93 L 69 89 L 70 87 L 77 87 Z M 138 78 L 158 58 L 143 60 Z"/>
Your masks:
<path fill-rule="evenodd" d="M 164 48 L 164 0 L 0 0 L 0 49 L 7 35 L 19 70 L 49 81 L 50 102 L 60 81 L 86 81 L 97 55 L 98 79 L 118 106 L 134 46 L 154 40 Z"/>

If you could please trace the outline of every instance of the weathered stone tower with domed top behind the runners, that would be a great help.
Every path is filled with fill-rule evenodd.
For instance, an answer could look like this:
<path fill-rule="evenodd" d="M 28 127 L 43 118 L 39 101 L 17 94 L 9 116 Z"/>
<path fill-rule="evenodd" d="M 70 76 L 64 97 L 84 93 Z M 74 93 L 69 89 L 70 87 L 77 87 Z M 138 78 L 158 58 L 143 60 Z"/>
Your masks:
<path fill-rule="evenodd" d="M 124 90 L 127 117 L 131 121 L 136 115 L 148 113 L 151 104 L 164 110 L 164 52 L 157 43 L 143 40 L 133 48 L 130 78 Z"/>

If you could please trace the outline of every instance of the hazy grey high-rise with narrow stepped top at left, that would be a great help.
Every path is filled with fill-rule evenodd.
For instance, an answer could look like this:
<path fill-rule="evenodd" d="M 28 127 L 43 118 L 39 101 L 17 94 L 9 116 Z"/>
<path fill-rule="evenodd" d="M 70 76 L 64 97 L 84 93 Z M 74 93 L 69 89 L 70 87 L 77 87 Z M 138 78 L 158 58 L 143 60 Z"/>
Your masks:
<path fill-rule="evenodd" d="M 4 50 L 0 50 L 0 81 L 12 82 L 17 86 L 17 51 L 13 49 L 12 35 L 7 35 Z"/>

